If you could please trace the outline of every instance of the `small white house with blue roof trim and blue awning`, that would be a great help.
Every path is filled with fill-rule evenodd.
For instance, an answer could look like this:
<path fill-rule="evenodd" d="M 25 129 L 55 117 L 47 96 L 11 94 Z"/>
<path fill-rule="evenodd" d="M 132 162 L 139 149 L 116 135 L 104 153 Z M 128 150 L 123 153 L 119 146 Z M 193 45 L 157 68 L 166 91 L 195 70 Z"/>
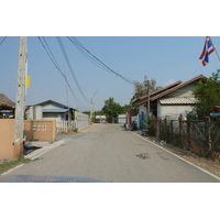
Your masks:
<path fill-rule="evenodd" d="M 74 108 L 66 105 L 47 100 L 29 107 L 30 120 L 56 120 L 56 121 L 68 121 L 74 120 Z"/>

